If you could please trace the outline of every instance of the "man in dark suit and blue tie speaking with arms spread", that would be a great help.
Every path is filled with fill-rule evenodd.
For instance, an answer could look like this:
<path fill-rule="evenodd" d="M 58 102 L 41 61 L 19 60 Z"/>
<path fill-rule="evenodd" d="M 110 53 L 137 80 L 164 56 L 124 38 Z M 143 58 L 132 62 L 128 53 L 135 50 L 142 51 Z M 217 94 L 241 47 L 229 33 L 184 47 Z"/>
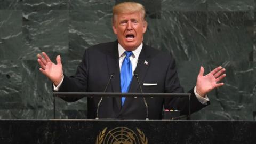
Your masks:
<path fill-rule="evenodd" d="M 145 93 L 183 93 L 172 56 L 143 43 L 146 29 L 145 8 L 141 4 L 120 3 L 113 7 L 113 31 L 117 41 L 86 49 L 75 76 L 63 74 L 60 55 L 55 65 L 44 52 L 43 57 L 37 55 L 39 70 L 51 79 L 55 91 L 103 92 L 113 76 L 106 92 L 140 92 L 136 74 Z M 201 67 L 196 86 L 189 91 L 192 112 L 209 105 L 206 94 L 223 85 L 218 82 L 226 76 L 224 71 L 217 67 L 204 76 Z M 95 118 L 100 98 L 87 100 L 88 118 Z M 181 115 L 188 114 L 187 98 L 147 98 L 146 101 L 149 119 L 161 119 L 163 106 L 164 109 L 178 109 Z M 146 107 L 142 98 L 103 98 L 99 118 L 145 119 Z"/>

